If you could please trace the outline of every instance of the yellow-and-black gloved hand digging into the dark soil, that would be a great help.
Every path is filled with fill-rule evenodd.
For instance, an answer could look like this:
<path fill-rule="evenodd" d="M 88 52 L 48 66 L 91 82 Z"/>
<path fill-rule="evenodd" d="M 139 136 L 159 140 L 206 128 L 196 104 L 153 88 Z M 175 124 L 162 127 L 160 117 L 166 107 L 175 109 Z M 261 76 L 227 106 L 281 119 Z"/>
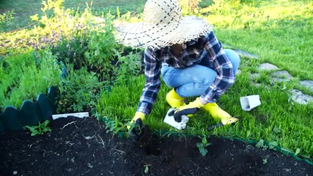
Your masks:
<path fill-rule="evenodd" d="M 141 130 L 143 128 L 143 120 L 146 114 L 143 112 L 136 112 L 134 118 L 131 120 L 131 126 L 127 126 L 128 134 L 133 138 L 137 139 L 141 135 Z"/>

